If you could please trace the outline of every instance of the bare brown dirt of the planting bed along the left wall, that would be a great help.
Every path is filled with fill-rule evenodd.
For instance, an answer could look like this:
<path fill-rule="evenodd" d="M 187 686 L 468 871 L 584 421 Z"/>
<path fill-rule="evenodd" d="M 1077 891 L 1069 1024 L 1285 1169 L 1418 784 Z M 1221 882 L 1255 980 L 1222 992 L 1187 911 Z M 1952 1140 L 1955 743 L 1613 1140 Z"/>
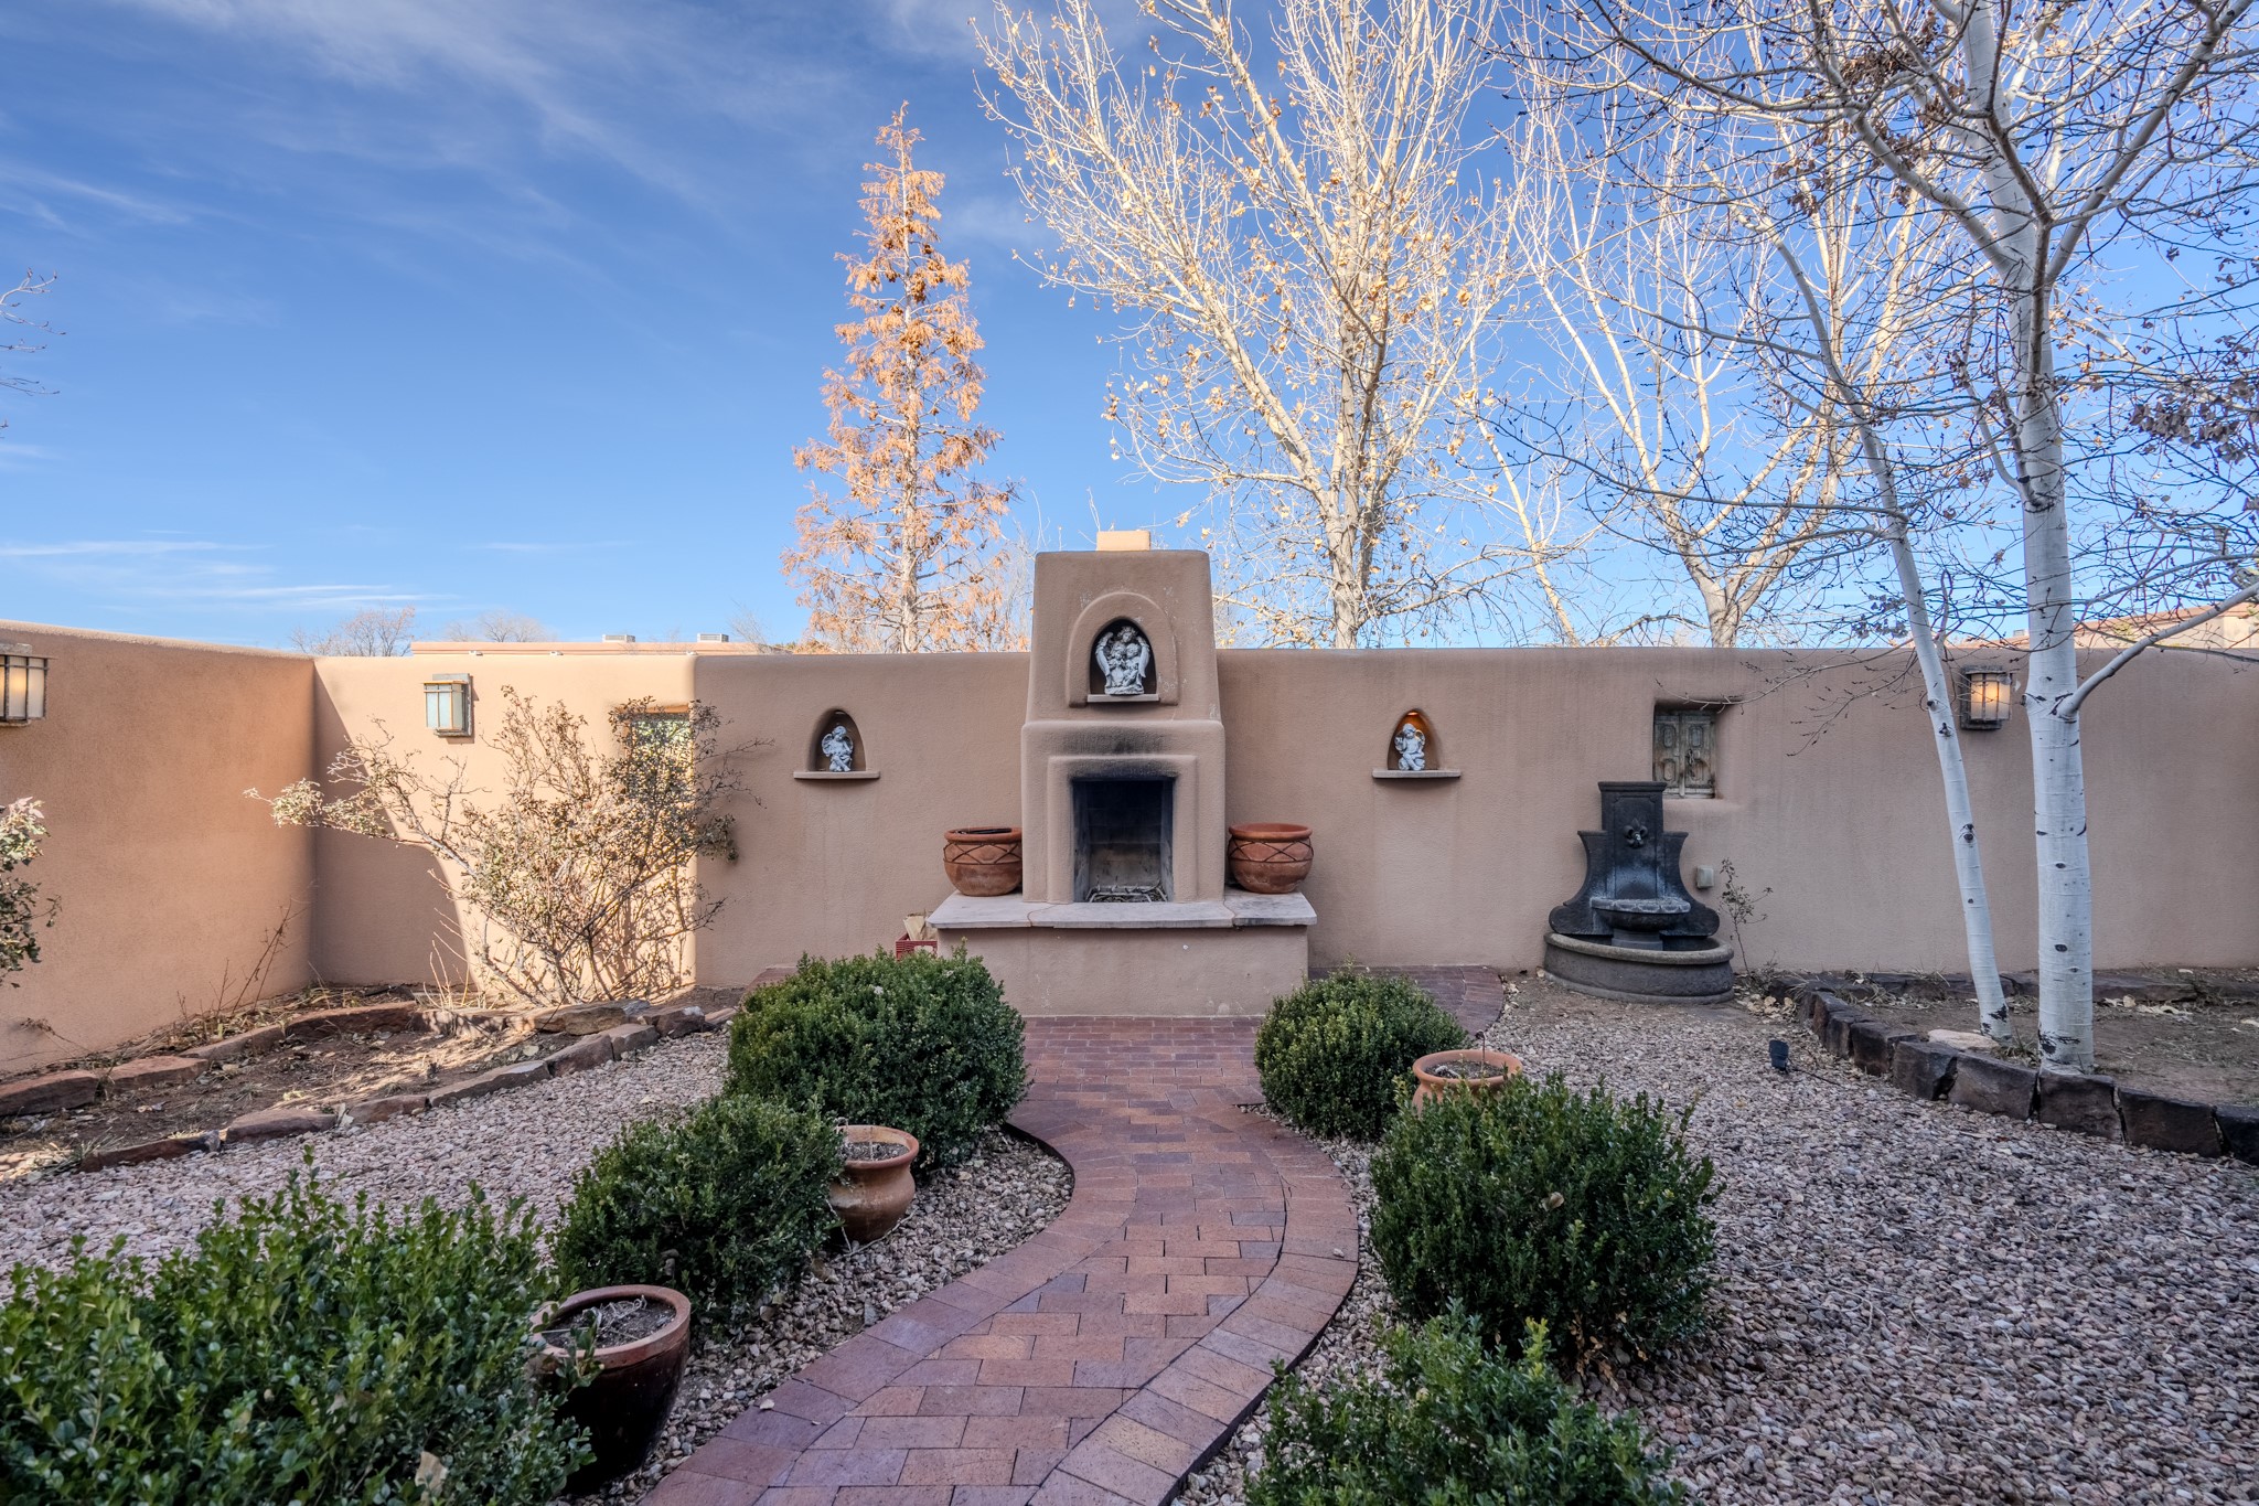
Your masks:
<path fill-rule="evenodd" d="M 669 1000 L 687 1005 L 736 1002 L 743 989 L 691 989 Z M 140 1093 L 106 1093 L 86 1109 L 0 1120 L 0 1181 L 38 1176 L 75 1165 L 90 1149 L 140 1145 L 174 1133 L 219 1129 L 260 1109 L 303 1104 L 337 1109 L 386 1093 L 441 1088 L 511 1061 L 556 1050 L 558 1036 L 535 1036 L 526 1009 L 479 1007 L 474 998 L 413 989 L 307 989 L 262 1000 L 224 1016 L 185 1021 L 129 1045 L 59 1061 L 54 1070 L 106 1070 L 122 1061 L 165 1057 L 237 1036 L 262 1025 L 280 1025 L 294 1014 L 346 1009 L 389 1000 L 416 1000 L 438 1012 L 436 1032 L 341 1034 L 291 1041 L 271 1050 L 215 1063 L 203 1077 L 151 1086 Z"/>

